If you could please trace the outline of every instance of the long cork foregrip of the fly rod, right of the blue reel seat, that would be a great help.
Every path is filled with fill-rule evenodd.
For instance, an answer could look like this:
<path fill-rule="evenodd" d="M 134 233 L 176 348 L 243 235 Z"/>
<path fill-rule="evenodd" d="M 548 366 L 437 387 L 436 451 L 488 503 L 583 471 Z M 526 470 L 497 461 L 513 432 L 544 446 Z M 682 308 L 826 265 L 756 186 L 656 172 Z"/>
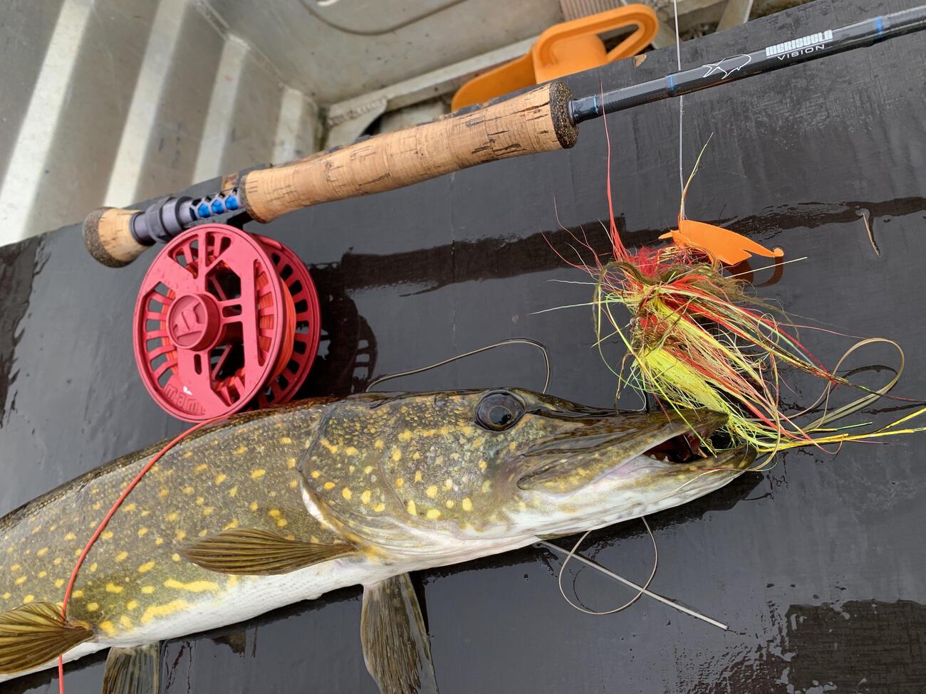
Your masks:
<path fill-rule="evenodd" d="M 250 171 L 240 191 L 251 217 L 269 222 L 312 204 L 391 191 L 461 168 L 565 149 L 578 130 L 571 94 L 551 82 L 505 101 L 397 130 L 280 167 Z"/>

